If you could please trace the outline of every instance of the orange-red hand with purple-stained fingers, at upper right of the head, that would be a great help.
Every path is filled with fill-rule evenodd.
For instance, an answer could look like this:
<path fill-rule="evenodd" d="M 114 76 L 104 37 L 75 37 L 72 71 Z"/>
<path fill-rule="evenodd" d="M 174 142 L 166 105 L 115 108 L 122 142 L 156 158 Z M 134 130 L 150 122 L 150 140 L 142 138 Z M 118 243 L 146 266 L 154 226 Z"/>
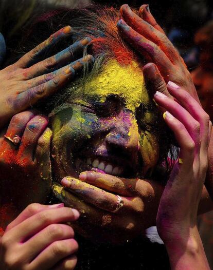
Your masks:
<path fill-rule="evenodd" d="M 122 37 L 141 55 L 148 64 L 144 67 L 150 79 L 163 76 L 166 83 L 172 81 L 192 95 L 199 102 L 187 67 L 174 48 L 163 29 L 156 23 L 149 11 L 148 5 L 140 7 L 140 16 L 136 15 L 128 5 L 120 8 L 123 20 L 117 24 Z M 161 72 L 161 73 L 159 73 Z M 159 80 L 161 83 L 161 80 Z M 163 91 L 164 85 L 158 85 L 158 91 Z M 169 95 L 171 97 L 171 95 Z"/>

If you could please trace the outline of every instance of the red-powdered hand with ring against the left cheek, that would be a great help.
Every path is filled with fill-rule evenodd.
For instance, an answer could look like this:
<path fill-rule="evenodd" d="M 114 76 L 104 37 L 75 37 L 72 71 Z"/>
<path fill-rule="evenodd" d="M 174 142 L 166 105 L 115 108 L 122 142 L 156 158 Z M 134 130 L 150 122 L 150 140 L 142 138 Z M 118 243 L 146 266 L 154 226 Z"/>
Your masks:
<path fill-rule="evenodd" d="M 7 130 L 2 131 L 1 203 L 12 203 L 14 212 L 20 213 L 32 202 L 45 202 L 49 194 L 52 132 L 47 125 L 46 117 L 25 111 L 14 115 Z"/>

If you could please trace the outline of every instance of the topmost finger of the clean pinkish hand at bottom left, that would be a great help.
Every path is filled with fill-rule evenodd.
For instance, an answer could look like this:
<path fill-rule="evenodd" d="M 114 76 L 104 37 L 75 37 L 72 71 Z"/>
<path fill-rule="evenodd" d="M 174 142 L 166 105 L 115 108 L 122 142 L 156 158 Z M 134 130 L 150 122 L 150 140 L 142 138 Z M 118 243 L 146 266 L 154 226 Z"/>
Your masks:
<path fill-rule="evenodd" d="M 17 216 L 16 219 L 14 219 L 6 228 L 5 232 L 8 232 L 8 230 L 12 229 L 16 225 L 20 224 L 22 221 L 28 219 L 29 217 L 43 211 L 46 209 L 53 209 L 53 208 L 60 208 L 63 207 L 63 203 L 57 203 L 57 204 L 52 204 L 52 205 L 43 205 L 40 203 L 32 203 L 29 204 L 23 211 L 22 213 Z"/>

